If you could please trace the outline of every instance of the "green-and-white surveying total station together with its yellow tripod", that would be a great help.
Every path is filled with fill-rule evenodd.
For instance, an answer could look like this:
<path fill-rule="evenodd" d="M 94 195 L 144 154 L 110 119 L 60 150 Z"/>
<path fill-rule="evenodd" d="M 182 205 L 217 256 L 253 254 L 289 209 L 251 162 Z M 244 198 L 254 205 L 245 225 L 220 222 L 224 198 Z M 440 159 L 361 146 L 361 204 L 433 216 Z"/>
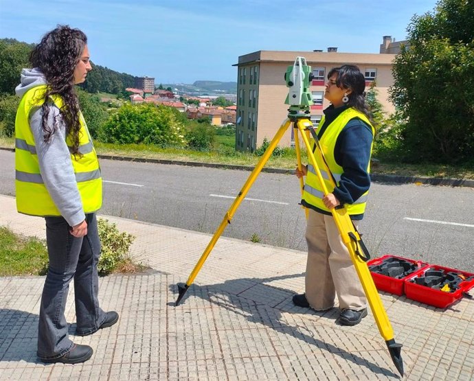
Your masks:
<path fill-rule="evenodd" d="M 278 131 L 276 132 L 275 136 L 269 143 L 267 150 L 265 150 L 264 154 L 258 161 L 255 168 L 247 178 L 247 181 L 243 185 L 242 189 L 238 196 L 235 198 L 234 203 L 232 203 L 231 207 L 225 213 L 225 216 L 219 225 L 218 229 L 214 233 L 213 237 L 211 238 L 209 244 L 201 258 L 194 266 L 192 273 L 188 277 L 188 280 L 185 284 L 178 284 L 178 298 L 176 300 L 175 305 L 178 305 L 185 292 L 194 282 L 196 275 L 201 270 L 205 260 L 210 255 L 210 252 L 214 248 L 218 238 L 221 236 L 227 224 L 230 224 L 232 218 L 234 217 L 234 213 L 236 212 L 237 208 L 239 207 L 242 200 L 249 192 L 251 185 L 253 185 L 254 181 L 256 180 L 258 174 L 262 171 L 262 168 L 267 163 L 269 157 L 273 153 L 273 150 L 277 147 L 280 139 L 284 135 L 284 132 L 288 130 L 289 126 L 295 130 L 295 149 L 296 149 L 296 157 L 297 157 L 297 167 L 298 169 L 302 169 L 301 163 L 301 148 L 300 148 L 300 141 L 299 135 L 302 138 L 304 146 L 306 147 L 306 152 L 308 153 L 308 161 L 311 162 L 313 168 L 315 169 L 317 178 L 321 183 L 321 187 L 323 189 L 324 196 L 327 196 L 329 193 L 332 192 L 337 184 L 333 176 L 330 177 L 332 189 L 327 189 L 326 183 L 324 182 L 324 178 L 321 174 L 321 170 L 317 165 L 317 161 L 315 155 L 319 155 L 319 158 L 323 159 L 321 162 L 324 162 L 324 154 L 321 150 L 321 146 L 319 145 L 319 140 L 317 139 L 317 135 L 315 133 L 315 128 L 311 123 L 311 105 L 313 104 L 313 98 L 309 91 L 309 85 L 311 84 L 312 79 L 312 72 L 311 66 L 306 65 L 306 59 L 303 57 L 297 57 L 295 59 L 295 63 L 293 66 L 288 67 L 286 69 L 286 73 L 284 74 L 284 79 L 286 81 L 286 86 L 289 87 L 289 93 L 286 97 L 285 104 L 289 104 L 289 113 L 288 117 L 284 120 Z M 314 139 L 315 149 L 313 152 L 313 148 L 311 147 L 311 143 L 308 139 L 307 132 L 310 132 Z M 330 174 L 330 170 L 325 165 L 326 168 L 323 168 Z M 304 188 L 304 180 L 300 178 L 300 185 L 301 190 L 303 192 Z M 379 296 L 379 292 L 377 292 L 374 281 L 372 279 L 372 275 L 370 275 L 370 270 L 367 266 L 367 261 L 370 259 L 370 254 L 368 249 L 365 247 L 365 244 L 361 240 L 361 235 L 352 224 L 352 220 L 350 220 L 350 216 L 347 212 L 346 207 L 340 205 L 335 209 L 331 209 L 332 217 L 335 220 L 335 224 L 337 225 L 337 229 L 341 235 L 341 238 L 346 244 L 348 248 L 350 258 L 352 259 L 352 263 L 357 270 L 357 275 L 359 276 L 359 280 L 363 286 L 363 290 L 365 292 L 365 296 L 368 299 L 368 303 L 372 310 L 372 314 L 374 315 L 374 320 L 376 322 L 377 327 L 379 327 L 379 332 L 381 336 L 385 339 L 385 343 L 387 344 L 388 351 L 390 352 L 390 356 L 392 357 L 392 361 L 396 369 L 400 372 L 403 376 L 403 360 L 401 358 L 401 347 L 402 345 L 395 342 L 394 339 L 394 332 L 392 329 L 392 325 L 387 316 L 387 312 L 385 312 L 385 308 L 383 307 L 381 298 Z M 306 217 L 307 217 L 307 210 L 306 210 Z"/>

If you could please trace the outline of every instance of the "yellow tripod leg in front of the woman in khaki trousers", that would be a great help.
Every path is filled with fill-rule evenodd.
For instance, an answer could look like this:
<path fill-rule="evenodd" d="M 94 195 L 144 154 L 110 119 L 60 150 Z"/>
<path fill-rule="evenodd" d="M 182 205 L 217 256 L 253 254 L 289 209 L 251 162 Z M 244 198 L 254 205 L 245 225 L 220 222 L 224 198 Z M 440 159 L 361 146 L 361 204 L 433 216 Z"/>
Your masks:
<path fill-rule="evenodd" d="M 317 166 L 315 155 L 313 154 L 313 150 L 311 150 L 308 138 L 306 137 L 306 135 L 304 135 L 304 129 L 308 127 L 312 128 L 312 124 L 308 120 L 302 120 L 297 122 L 297 127 L 298 130 L 300 130 L 300 132 L 302 133 L 302 139 L 304 140 L 304 144 L 306 146 L 306 149 L 308 150 L 308 159 L 311 161 L 311 164 L 313 164 L 313 167 L 315 168 L 317 178 L 321 183 L 323 193 L 326 196 L 329 193 L 328 189 L 326 187 L 326 184 L 324 183 L 321 171 Z M 319 154 L 320 156 L 323 155 L 321 149 L 318 149 L 316 151 L 317 154 Z M 325 169 L 328 171 L 328 173 L 330 172 L 327 166 Z M 335 187 L 336 184 L 334 183 L 332 178 L 330 179 L 330 181 L 332 182 L 332 187 Z M 383 307 L 379 292 L 375 287 L 374 279 L 372 279 L 372 275 L 370 275 L 370 270 L 363 258 L 361 258 L 361 255 L 357 254 L 359 253 L 359 251 L 364 252 L 365 245 L 363 245 L 359 233 L 354 228 L 354 224 L 352 224 L 350 216 L 347 213 L 347 209 L 345 207 L 340 209 L 331 209 L 331 213 L 337 225 L 337 229 L 341 234 L 341 238 L 348 248 L 350 259 L 352 259 L 352 263 L 354 264 L 354 267 L 357 270 L 357 275 L 359 276 L 359 280 L 361 281 L 363 290 L 365 292 L 365 297 L 367 297 L 367 300 L 370 305 L 370 309 L 374 314 L 374 319 L 377 324 L 377 327 L 379 327 L 379 332 L 381 336 L 385 339 L 385 343 L 387 343 L 387 348 L 390 352 L 390 356 L 392 357 L 392 361 L 394 362 L 396 369 L 398 369 L 400 374 L 403 376 L 403 360 L 400 355 L 401 345 L 397 344 L 394 340 L 394 331 L 392 329 L 392 325 L 390 324 L 387 312 Z"/>

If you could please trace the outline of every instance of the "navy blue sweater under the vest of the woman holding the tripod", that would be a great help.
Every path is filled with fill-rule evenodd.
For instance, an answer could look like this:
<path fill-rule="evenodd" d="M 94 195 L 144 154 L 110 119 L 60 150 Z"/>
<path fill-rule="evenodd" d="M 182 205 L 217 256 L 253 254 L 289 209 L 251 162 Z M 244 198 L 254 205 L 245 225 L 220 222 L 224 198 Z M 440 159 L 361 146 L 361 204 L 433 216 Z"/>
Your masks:
<path fill-rule="evenodd" d="M 321 139 L 326 128 L 347 108 L 348 106 L 335 108 L 331 105 L 324 110 L 325 120 L 317 131 L 318 139 Z M 370 188 L 370 174 L 367 172 L 367 167 L 370 161 L 370 148 L 373 138 L 372 128 L 357 117 L 351 119 L 337 137 L 334 157 L 336 163 L 343 168 L 343 174 L 339 186 L 332 193 L 341 204 L 354 203 Z M 304 200 L 302 200 L 302 204 L 315 209 L 319 213 L 330 215 L 327 211 L 309 205 Z M 354 214 L 350 218 L 352 220 L 362 220 L 363 213 Z"/>

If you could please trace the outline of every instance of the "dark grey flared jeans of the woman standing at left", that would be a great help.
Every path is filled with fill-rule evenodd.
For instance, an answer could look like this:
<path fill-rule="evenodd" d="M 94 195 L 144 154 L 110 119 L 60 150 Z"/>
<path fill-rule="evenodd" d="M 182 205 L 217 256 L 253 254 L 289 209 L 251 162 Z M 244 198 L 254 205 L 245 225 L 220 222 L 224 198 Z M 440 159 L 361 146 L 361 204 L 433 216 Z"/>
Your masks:
<path fill-rule="evenodd" d="M 97 331 L 106 315 L 98 301 L 100 239 L 95 213 L 87 214 L 87 235 L 82 238 L 69 233 L 69 224 L 63 217 L 45 220 L 49 269 L 41 296 L 38 357 L 51 359 L 63 356 L 73 346 L 64 314 L 69 282 L 73 278 L 76 331 L 82 334 Z"/>

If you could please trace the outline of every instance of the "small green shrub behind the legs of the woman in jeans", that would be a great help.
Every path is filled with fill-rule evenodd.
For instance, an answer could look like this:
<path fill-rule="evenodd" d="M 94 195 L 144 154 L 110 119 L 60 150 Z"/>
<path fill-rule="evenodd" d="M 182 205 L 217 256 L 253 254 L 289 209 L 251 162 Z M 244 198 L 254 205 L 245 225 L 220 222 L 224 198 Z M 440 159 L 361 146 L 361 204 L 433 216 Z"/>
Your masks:
<path fill-rule="evenodd" d="M 99 237 L 102 244 L 98 270 L 100 275 L 110 274 L 124 260 L 128 259 L 128 251 L 135 236 L 117 229 L 117 225 L 98 219 Z"/>

